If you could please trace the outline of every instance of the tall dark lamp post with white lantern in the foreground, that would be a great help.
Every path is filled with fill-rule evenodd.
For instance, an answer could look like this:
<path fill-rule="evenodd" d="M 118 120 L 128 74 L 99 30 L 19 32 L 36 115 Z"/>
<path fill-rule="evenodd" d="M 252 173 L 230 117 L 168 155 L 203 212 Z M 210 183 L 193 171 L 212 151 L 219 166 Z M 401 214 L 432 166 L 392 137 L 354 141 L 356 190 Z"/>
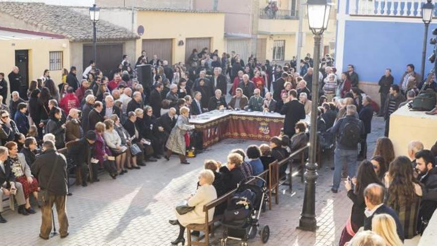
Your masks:
<path fill-rule="evenodd" d="M 320 64 L 320 42 L 322 34 L 328 27 L 329 12 L 331 3 L 328 0 L 308 0 L 308 24 L 314 34 L 314 66 L 312 74 L 312 98 L 319 98 L 319 64 Z M 313 99 L 314 100 L 314 99 Z M 315 188 L 317 180 L 317 103 L 311 106 L 311 125 L 309 133 L 309 162 L 306 163 L 305 191 L 303 196 L 302 213 L 300 213 L 298 229 L 304 231 L 316 230 L 315 215 Z"/>

